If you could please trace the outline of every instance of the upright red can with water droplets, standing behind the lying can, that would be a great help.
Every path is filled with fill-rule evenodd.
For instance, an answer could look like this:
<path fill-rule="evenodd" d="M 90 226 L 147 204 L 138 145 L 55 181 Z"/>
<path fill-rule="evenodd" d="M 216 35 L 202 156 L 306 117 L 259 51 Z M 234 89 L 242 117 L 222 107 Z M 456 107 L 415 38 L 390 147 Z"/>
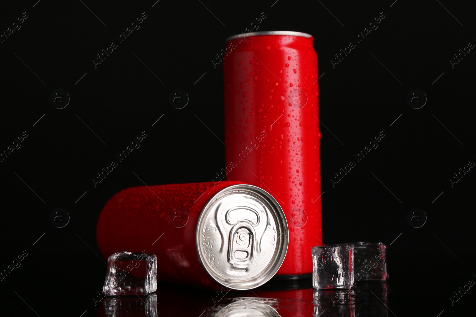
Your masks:
<path fill-rule="evenodd" d="M 281 204 L 290 232 L 278 275 L 311 274 L 309 251 L 322 244 L 313 40 L 291 31 L 233 36 L 223 59 L 226 179 L 264 188 Z"/>

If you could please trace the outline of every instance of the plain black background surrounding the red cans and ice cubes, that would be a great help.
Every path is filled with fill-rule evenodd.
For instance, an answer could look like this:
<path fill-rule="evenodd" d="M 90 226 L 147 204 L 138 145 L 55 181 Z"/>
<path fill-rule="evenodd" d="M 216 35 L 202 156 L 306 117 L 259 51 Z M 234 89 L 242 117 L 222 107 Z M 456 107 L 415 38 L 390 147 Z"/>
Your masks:
<path fill-rule="evenodd" d="M 453 68 L 450 59 L 476 43 L 475 8 L 446 0 L 393 1 L 2 2 L 0 32 L 23 12 L 28 18 L 0 44 L 0 152 L 23 131 L 28 137 L 0 163 L 0 270 L 29 252 L 0 281 L 3 309 L 22 316 L 95 314 L 93 297 L 106 269 L 95 241 L 102 206 L 142 181 L 207 182 L 225 166 L 224 146 L 210 132 L 223 140 L 223 70 L 211 60 L 226 37 L 245 32 L 265 12 L 258 31 L 315 37 L 325 125 L 324 242 L 389 245 L 389 307 L 397 316 L 469 311 L 476 290 L 454 306 L 449 298 L 476 280 L 476 172 L 453 187 L 450 178 L 476 162 L 476 53 L 472 49 Z M 140 29 L 95 68 L 96 55 L 142 12 L 147 19 Z M 385 19 L 378 29 L 333 68 L 334 54 L 380 12 Z M 70 96 L 64 109 L 50 104 L 55 89 Z M 174 89 L 187 92 L 185 108 L 169 105 Z M 427 96 L 421 109 L 407 104 L 413 89 Z M 96 173 L 144 130 L 140 148 L 95 187 Z M 333 187 L 334 173 L 380 131 L 386 136 L 378 148 Z M 407 222 L 416 207 L 427 215 L 421 228 Z M 66 227 L 50 223 L 55 208 L 69 212 Z"/>

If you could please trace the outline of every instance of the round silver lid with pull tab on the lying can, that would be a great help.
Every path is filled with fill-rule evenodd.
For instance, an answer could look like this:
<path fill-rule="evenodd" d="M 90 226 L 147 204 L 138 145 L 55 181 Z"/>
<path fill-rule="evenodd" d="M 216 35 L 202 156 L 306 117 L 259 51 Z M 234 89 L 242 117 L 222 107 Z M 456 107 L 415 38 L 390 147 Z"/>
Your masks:
<path fill-rule="evenodd" d="M 198 217 L 198 259 L 219 284 L 256 288 L 271 279 L 288 250 L 288 223 L 268 192 L 248 185 L 229 186 L 205 205 Z"/>

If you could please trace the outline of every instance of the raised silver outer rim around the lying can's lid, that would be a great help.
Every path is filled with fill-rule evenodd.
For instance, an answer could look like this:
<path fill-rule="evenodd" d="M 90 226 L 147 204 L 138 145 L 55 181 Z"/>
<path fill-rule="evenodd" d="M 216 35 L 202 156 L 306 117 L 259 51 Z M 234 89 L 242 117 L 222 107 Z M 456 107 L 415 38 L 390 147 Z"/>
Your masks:
<path fill-rule="evenodd" d="M 219 277 L 216 276 L 215 273 L 208 267 L 208 263 L 205 263 L 203 261 L 202 256 L 201 256 L 201 255 L 203 255 L 203 251 L 200 250 L 201 234 L 199 234 L 199 233 L 201 232 L 201 228 L 203 228 L 204 222 L 207 218 L 207 215 L 208 215 L 207 211 L 209 211 L 211 205 L 213 204 L 213 202 L 215 201 L 216 198 L 218 198 L 219 196 L 223 195 L 226 192 L 234 192 L 237 189 L 245 189 L 245 190 L 248 190 L 248 192 L 254 192 L 255 194 L 263 195 L 264 198 L 267 199 L 266 203 L 269 204 L 269 207 L 271 207 L 271 209 L 276 211 L 276 214 L 275 214 L 275 216 L 276 216 L 276 219 L 275 219 L 276 225 L 277 225 L 277 227 L 280 227 L 282 229 L 281 235 L 277 238 L 277 240 L 279 238 L 281 238 L 281 239 L 279 239 L 280 240 L 279 248 L 278 248 L 278 246 L 276 248 L 276 250 L 278 250 L 278 255 L 279 256 L 278 256 L 278 258 L 274 259 L 274 261 L 271 261 L 269 263 L 269 264 L 271 264 L 272 262 L 274 262 L 274 265 L 272 266 L 272 269 L 269 270 L 268 272 L 264 271 L 263 272 L 264 274 L 261 274 L 261 278 L 259 279 L 259 281 L 257 283 L 254 283 L 254 284 L 249 284 L 248 283 L 247 285 L 244 285 L 244 286 L 239 285 L 237 283 L 228 283 L 227 281 L 225 281 L 223 279 L 219 279 Z M 250 191 L 250 190 L 252 190 L 252 191 Z M 279 205 L 278 201 L 273 196 L 271 196 L 264 189 L 262 189 L 260 187 L 257 187 L 257 186 L 254 186 L 254 185 L 236 184 L 236 185 L 228 186 L 228 187 L 222 189 L 221 191 L 217 192 L 205 204 L 205 206 L 202 209 L 202 212 L 198 216 L 195 236 L 196 236 L 195 246 L 196 246 L 196 249 L 197 249 L 198 260 L 200 261 L 202 267 L 207 271 L 208 275 L 212 279 L 214 279 L 216 282 L 218 282 L 218 284 L 223 285 L 225 287 L 236 289 L 236 290 L 247 290 L 247 289 L 257 288 L 257 287 L 263 285 L 264 283 L 268 282 L 268 280 L 271 279 L 276 274 L 276 272 L 278 272 L 278 269 L 283 264 L 286 253 L 288 251 L 289 228 L 288 228 L 288 221 L 286 220 L 286 216 L 284 214 L 284 211 L 281 208 L 281 206 Z"/>

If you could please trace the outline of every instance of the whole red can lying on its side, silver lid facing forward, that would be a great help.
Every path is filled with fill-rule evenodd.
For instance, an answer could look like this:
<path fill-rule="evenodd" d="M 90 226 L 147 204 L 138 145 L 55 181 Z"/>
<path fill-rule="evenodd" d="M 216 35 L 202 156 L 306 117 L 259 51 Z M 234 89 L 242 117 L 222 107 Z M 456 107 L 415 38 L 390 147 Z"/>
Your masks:
<path fill-rule="evenodd" d="M 288 249 L 288 225 L 263 189 L 236 181 L 141 186 L 114 195 L 97 224 L 99 250 L 157 256 L 157 279 L 256 288 Z"/>

